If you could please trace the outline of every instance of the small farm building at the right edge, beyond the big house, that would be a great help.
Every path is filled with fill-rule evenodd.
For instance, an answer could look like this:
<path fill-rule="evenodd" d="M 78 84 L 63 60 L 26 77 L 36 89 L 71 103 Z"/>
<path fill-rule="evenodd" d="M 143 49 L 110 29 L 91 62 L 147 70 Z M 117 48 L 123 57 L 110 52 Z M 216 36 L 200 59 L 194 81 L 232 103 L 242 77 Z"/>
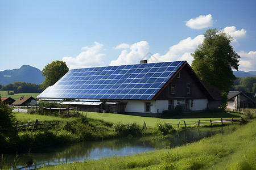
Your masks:
<path fill-rule="evenodd" d="M 256 108 L 256 102 L 241 91 L 230 91 L 226 108 Z"/>

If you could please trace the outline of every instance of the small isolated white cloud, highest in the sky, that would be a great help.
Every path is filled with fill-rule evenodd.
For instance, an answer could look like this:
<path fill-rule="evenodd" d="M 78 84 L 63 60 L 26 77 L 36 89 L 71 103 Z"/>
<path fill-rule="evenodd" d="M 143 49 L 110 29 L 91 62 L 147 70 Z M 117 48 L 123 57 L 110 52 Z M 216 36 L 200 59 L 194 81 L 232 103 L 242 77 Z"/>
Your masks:
<path fill-rule="evenodd" d="M 203 29 L 207 27 L 212 27 L 212 24 L 213 24 L 213 18 L 211 14 L 200 15 L 196 19 L 191 18 L 186 22 L 186 25 L 189 28 L 193 28 L 193 29 Z"/>

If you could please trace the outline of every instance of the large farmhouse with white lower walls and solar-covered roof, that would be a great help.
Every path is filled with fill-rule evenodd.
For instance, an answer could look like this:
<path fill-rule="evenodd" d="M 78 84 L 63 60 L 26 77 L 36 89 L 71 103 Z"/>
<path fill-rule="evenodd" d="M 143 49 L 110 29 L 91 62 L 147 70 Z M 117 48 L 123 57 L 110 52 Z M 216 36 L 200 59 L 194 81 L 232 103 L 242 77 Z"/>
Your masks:
<path fill-rule="evenodd" d="M 94 99 L 109 112 L 154 116 L 182 105 L 218 108 L 221 91 L 199 79 L 187 61 L 73 69 L 39 99 Z"/>

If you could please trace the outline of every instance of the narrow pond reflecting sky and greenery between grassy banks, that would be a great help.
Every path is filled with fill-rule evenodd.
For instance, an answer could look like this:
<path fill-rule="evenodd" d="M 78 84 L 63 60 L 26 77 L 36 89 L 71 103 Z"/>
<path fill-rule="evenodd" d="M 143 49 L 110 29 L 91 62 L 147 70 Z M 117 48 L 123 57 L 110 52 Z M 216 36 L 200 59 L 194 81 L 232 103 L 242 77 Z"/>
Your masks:
<path fill-rule="evenodd" d="M 30 154 L 19 154 L 16 158 L 18 160 L 16 165 L 14 164 L 16 155 L 5 155 L 5 160 L 7 164 L 12 164 L 11 167 L 14 169 L 35 169 L 43 165 L 83 162 L 89 159 L 133 155 L 162 148 L 173 148 L 185 143 L 199 141 L 202 138 L 207 138 L 221 132 L 222 127 L 199 128 L 183 130 L 166 137 L 150 136 L 82 142 L 71 146 L 46 148 L 43 151 L 31 152 Z M 30 167 L 26 167 L 26 164 L 30 164 Z"/>

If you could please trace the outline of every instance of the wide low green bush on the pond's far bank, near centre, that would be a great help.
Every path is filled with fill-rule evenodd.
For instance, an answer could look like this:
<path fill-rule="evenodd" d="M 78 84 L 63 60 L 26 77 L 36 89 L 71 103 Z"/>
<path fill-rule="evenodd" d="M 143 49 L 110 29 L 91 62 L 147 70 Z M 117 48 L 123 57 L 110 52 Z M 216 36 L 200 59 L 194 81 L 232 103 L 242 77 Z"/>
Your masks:
<path fill-rule="evenodd" d="M 113 125 L 115 132 L 123 137 L 136 137 L 141 135 L 141 129 L 136 125 L 136 123 L 122 124 L 116 123 Z"/>

